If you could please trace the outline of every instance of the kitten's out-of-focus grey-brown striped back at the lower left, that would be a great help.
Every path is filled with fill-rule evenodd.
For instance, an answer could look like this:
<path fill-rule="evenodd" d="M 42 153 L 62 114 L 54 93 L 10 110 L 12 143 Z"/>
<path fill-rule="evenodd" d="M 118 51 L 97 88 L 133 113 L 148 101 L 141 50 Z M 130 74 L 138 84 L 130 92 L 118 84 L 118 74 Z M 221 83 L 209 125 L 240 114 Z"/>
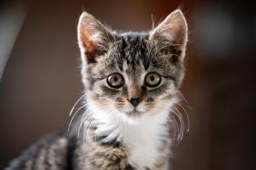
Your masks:
<path fill-rule="evenodd" d="M 73 147 L 72 138 L 68 137 L 66 130 L 57 131 L 43 137 L 26 149 L 10 162 L 5 170 L 42 169 L 42 166 L 45 169 L 45 165 L 47 167 L 57 165 L 59 167 L 57 169 L 64 169 L 68 163 L 69 152 L 73 150 Z"/>

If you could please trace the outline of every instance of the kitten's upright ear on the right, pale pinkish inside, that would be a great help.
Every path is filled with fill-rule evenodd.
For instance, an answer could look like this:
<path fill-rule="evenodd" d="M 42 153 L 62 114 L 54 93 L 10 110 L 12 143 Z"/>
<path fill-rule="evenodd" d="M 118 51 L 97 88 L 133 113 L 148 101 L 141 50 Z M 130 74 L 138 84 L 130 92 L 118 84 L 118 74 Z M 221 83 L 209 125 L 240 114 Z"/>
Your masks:
<path fill-rule="evenodd" d="M 149 39 L 157 42 L 158 48 L 174 54 L 174 61 L 182 61 L 188 41 L 188 27 L 182 11 L 178 9 L 169 14 L 153 29 Z"/>

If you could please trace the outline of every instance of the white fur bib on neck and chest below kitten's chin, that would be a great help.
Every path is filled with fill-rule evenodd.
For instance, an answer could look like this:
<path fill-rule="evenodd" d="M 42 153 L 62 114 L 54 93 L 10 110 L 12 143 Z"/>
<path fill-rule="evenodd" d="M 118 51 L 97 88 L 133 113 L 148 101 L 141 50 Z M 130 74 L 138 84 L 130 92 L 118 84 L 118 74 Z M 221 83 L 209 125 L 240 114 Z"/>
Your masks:
<path fill-rule="evenodd" d="M 96 113 L 95 118 L 100 123 L 95 134 L 103 143 L 113 145 L 118 143 L 127 147 L 131 154 L 129 164 L 137 166 L 138 169 L 153 165 L 159 159 L 159 150 L 161 148 L 168 150 L 171 144 L 167 126 L 169 111 L 140 118 L 137 121 L 116 115 L 103 118 L 105 114 Z"/>

